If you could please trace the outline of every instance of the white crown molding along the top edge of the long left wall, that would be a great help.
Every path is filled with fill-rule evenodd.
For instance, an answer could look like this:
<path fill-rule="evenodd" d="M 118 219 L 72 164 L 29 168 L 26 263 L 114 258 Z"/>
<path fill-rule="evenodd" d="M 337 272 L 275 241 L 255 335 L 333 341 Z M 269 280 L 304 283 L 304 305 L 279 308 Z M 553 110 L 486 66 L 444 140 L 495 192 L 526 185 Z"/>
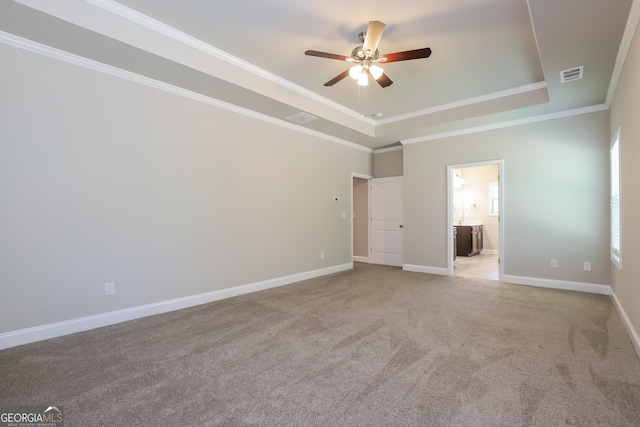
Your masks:
<path fill-rule="evenodd" d="M 285 120 L 276 119 L 271 116 L 267 116 L 265 114 L 257 113 L 255 111 L 238 107 L 237 105 L 230 104 L 228 102 L 223 102 L 215 98 L 211 98 L 209 96 L 202 95 L 197 92 L 193 92 L 187 89 L 183 89 L 178 86 L 174 86 L 165 82 L 161 82 L 159 80 L 154 80 L 152 78 L 133 73 L 131 71 L 126 71 L 121 68 L 117 68 L 111 65 L 104 64 L 102 62 L 94 61 L 88 58 L 84 58 L 82 56 L 74 55 L 69 52 L 65 52 L 60 49 L 53 48 L 51 46 L 46 46 L 41 43 L 34 42 L 32 40 L 25 39 L 23 37 L 16 36 L 14 34 L 10 34 L 4 31 L 0 31 L 0 43 L 4 43 L 9 46 L 16 47 L 18 49 L 26 50 L 32 53 L 36 53 L 42 56 L 46 56 L 52 59 L 56 59 L 59 61 L 63 61 L 69 64 L 77 65 L 92 71 L 97 71 L 99 73 L 107 74 L 112 77 L 117 77 L 123 80 L 128 80 L 130 82 L 138 83 L 147 87 L 152 87 L 158 90 L 162 90 L 164 92 L 168 92 L 174 95 L 182 96 L 184 98 L 188 98 L 197 102 L 201 102 L 203 104 L 211 105 L 214 107 L 218 107 L 227 111 L 231 111 L 234 113 L 242 114 L 247 117 L 252 117 L 257 120 L 262 120 L 264 122 L 268 122 L 274 124 L 276 126 L 288 128 L 297 132 L 305 133 L 307 135 L 311 135 L 317 138 L 324 139 L 326 141 L 330 141 L 336 144 L 344 145 L 349 148 L 353 148 L 360 151 L 365 151 L 367 153 L 373 153 L 371 148 L 364 147 L 362 145 L 354 144 L 353 142 L 336 138 L 322 132 L 318 132 L 312 129 L 308 129 L 302 126 L 298 126 L 296 124 L 287 122 Z"/>

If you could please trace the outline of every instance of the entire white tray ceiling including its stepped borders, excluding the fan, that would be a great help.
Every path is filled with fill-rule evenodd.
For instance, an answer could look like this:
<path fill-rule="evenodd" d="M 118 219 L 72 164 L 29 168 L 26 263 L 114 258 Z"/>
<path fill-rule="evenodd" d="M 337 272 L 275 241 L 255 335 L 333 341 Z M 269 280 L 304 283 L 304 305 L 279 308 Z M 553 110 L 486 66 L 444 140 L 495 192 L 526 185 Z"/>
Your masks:
<path fill-rule="evenodd" d="M 305 128 L 376 149 L 606 108 L 632 2 L 5 0 L 0 41 L 19 36 L 277 120 L 304 111 L 319 117 Z M 323 86 L 349 63 L 304 52 L 348 56 L 370 20 L 387 25 L 381 55 L 431 57 L 383 65 L 387 88 Z M 584 78 L 561 84 L 577 66 Z"/>

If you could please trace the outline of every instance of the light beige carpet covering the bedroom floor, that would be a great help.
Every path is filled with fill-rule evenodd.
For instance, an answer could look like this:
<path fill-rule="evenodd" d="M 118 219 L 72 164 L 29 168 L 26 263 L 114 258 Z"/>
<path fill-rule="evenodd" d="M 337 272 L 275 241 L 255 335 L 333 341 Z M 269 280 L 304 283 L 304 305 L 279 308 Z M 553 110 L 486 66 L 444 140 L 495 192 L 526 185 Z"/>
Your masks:
<path fill-rule="evenodd" d="M 69 426 L 638 426 L 609 297 L 356 264 L 0 352 Z"/>

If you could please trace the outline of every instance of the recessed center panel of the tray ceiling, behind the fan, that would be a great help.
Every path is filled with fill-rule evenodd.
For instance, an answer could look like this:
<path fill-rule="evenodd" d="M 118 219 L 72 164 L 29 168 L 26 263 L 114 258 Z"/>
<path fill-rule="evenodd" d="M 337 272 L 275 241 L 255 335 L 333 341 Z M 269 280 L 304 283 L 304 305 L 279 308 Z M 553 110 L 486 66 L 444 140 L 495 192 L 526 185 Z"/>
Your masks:
<path fill-rule="evenodd" d="M 367 6 L 371 14 L 342 0 L 321 4 L 272 0 L 268 6 L 254 5 L 251 14 L 242 2 L 190 0 L 188 6 L 179 7 L 171 0 L 120 3 L 360 116 L 381 112 L 391 118 L 544 80 L 526 1 L 480 0 L 462 5 L 441 0 L 372 0 Z M 308 57 L 304 52 L 350 56 L 361 44 L 358 34 L 366 31 L 370 20 L 386 24 L 381 55 L 430 47 L 431 57 L 383 64 L 394 82 L 388 88 L 373 84 L 361 88 L 348 78 L 323 86 L 350 64 Z M 334 120 L 307 107 L 300 109 Z"/>

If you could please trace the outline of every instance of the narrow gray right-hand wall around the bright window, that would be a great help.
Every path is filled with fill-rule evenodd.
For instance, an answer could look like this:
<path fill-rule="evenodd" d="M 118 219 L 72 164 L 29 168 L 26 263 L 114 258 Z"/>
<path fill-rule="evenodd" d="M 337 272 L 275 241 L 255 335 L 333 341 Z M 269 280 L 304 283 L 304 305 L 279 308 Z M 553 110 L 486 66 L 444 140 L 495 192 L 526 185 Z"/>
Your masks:
<path fill-rule="evenodd" d="M 622 271 L 612 265 L 611 286 L 636 334 L 640 331 L 640 31 L 636 31 L 611 106 L 609 140 L 621 129 Z M 638 335 L 636 335 L 638 340 Z M 637 345 L 637 342 L 636 342 Z M 640 348 L 636 347 L 640 355 Z"/>

